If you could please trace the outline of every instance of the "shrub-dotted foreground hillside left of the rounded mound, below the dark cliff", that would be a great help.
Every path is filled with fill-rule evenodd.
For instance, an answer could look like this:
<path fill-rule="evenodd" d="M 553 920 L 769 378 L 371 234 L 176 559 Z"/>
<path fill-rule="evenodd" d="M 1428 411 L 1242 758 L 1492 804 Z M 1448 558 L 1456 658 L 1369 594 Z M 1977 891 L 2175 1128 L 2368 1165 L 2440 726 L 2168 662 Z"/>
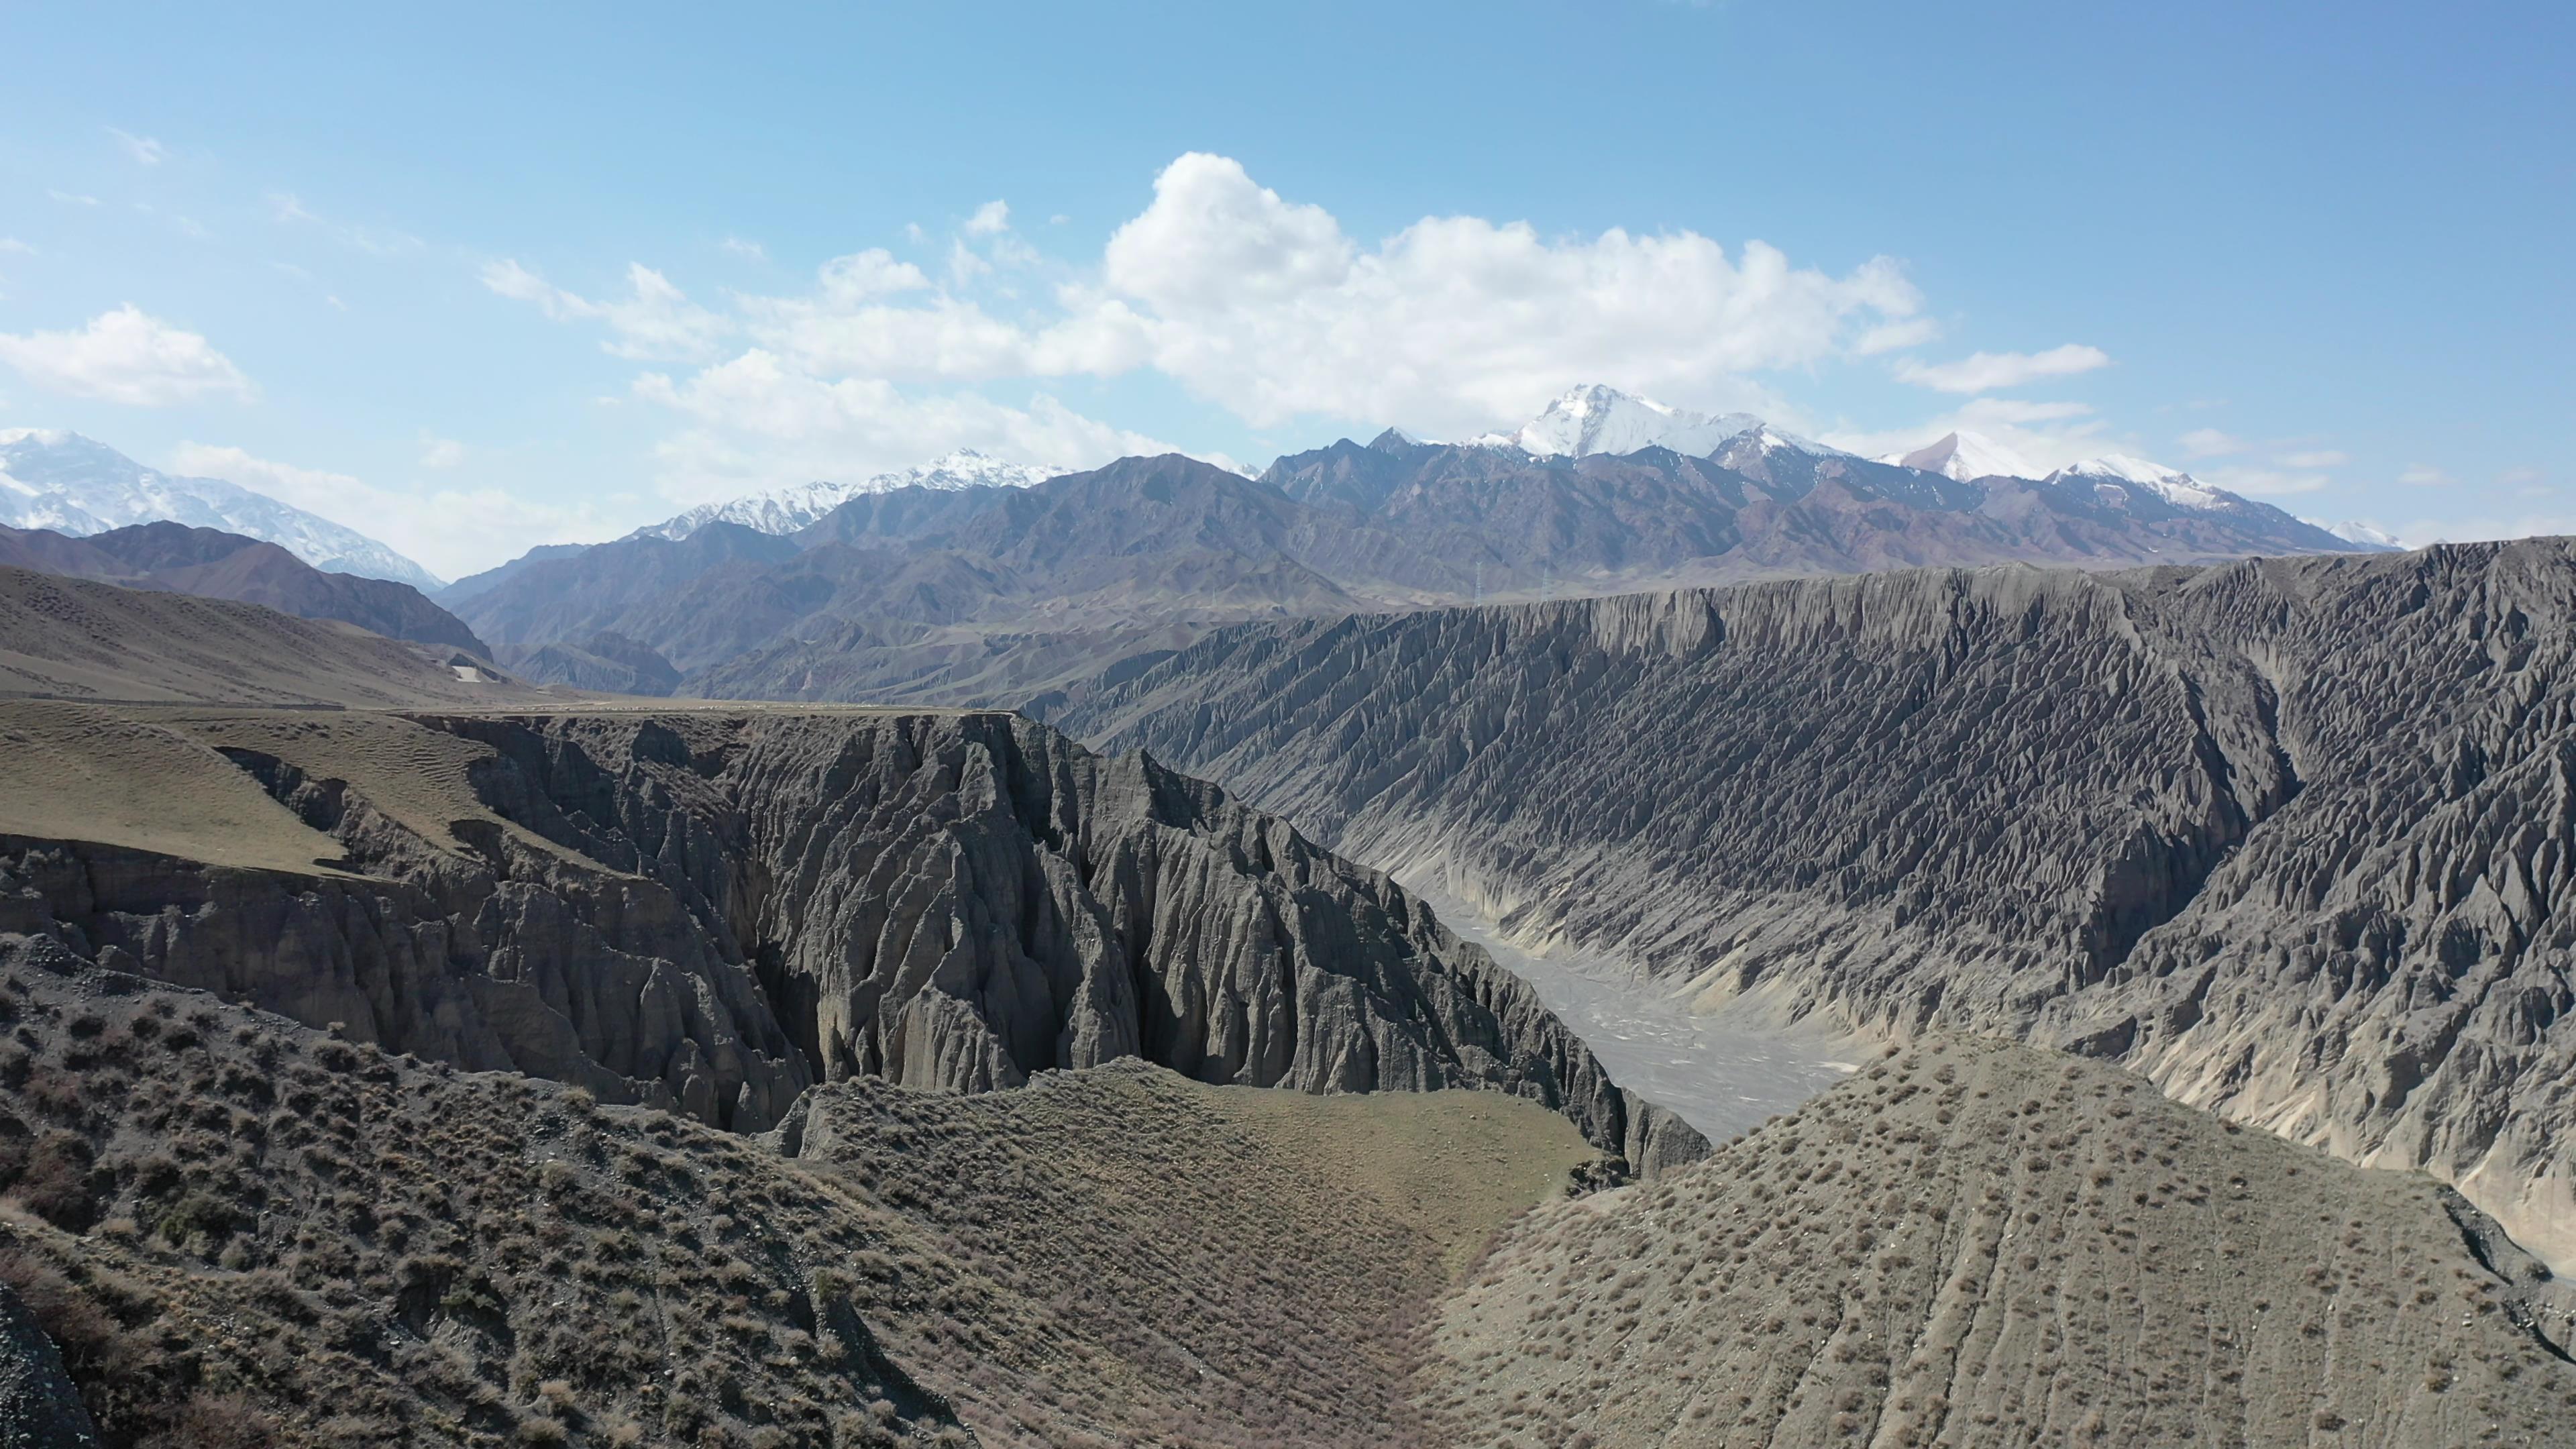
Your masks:
<path fill-rule="evenodd" d="M 1406 1328 L 1589 1155 L 1139 1062 L 757 1140 L 26 938 L 0 1016 L 0 1284 L 108 1449 L 1404 1444 Z"/>

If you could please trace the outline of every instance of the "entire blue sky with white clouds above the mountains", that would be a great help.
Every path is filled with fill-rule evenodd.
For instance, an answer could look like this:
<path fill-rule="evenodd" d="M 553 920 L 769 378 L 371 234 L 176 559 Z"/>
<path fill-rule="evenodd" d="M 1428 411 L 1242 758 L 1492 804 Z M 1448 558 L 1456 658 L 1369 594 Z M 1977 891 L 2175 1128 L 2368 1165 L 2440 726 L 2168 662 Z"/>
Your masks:
<path fill-rule="evenodd" d="M 2568 5 L 211 10 L 0 10 L 0 425 L 448 575 L 1577 382 L 2576 531 Z"/>

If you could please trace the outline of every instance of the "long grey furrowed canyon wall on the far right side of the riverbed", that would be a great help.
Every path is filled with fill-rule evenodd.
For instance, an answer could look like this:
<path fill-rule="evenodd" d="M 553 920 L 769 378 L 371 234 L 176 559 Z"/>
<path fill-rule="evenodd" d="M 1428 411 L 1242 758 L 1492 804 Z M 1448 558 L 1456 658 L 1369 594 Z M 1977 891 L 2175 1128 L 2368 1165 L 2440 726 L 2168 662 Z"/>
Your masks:
<path fill-rule="evenodd" d="M 1971 1026 L 2576 1263 L 2576 552 L 1242 627 L 1064 719 L 1708 1006 Z"/>

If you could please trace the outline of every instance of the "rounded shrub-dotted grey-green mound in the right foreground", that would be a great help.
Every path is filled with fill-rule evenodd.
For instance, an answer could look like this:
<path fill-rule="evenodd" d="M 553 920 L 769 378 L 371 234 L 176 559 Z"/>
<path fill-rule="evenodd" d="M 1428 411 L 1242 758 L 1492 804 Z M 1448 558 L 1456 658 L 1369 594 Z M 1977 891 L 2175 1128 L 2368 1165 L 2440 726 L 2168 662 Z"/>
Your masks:
<path fill-rule="evenodd" d="M 1522 1220 L 1425 1392 L 1458 1446 L 2563 1444 L 2566 1302 L 2496 1243 L 2421 1176 L 1924 1042 Z"/>

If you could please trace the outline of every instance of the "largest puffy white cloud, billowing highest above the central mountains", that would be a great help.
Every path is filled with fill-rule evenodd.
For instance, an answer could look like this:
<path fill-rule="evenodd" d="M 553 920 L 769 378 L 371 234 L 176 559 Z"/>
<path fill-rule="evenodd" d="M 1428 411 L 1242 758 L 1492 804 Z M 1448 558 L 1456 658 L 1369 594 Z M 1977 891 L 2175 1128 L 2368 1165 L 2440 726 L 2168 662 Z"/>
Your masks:
<path fill-rule="evenodd" d="M 1025 248 L 994 255 L 1038 260 Z M 884 281 L 853 297 L 835 268 Z M 1744 376 L 1762 369 L 1924 335 L 1911 325 L 1919 297 L 1888 260 L 1829 276 L 1762 242 L 1728 255 L 1695 232 L 1548 240 L 1476 217 L 1427 217 L 1365 248 L 1321 206 L 1291 204 L 1216 155 L 1164 168 L 1151 206 L 1097 268 L 1061 273 L 1051 309 L 997 317 L 969 294 L 987 271 L 963 237 L 945 286 L 860 253 L 809 297 L 742 309 L 762 348 L 817 374 L 1157 369 L 1255 425 L 1319 413 L 1450 436 L 1520 420 L 1571 382 L 1710 402 L 1747 394 Z"/>

